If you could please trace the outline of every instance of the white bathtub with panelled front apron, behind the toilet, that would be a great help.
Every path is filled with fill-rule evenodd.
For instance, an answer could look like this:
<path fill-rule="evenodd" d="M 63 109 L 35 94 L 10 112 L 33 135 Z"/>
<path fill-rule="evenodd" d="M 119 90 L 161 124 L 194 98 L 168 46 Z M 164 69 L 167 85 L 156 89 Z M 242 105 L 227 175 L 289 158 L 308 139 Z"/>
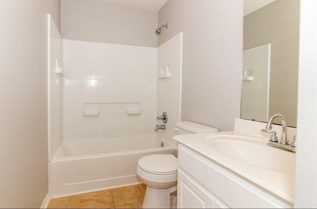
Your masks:
<path fill-rule="evenodd" d="M 136 174 L 138 160 L 152 154 L 176 156 L 177 149 L 157 135 L 63 142 L 49 163 L 50 196 L 141 183 Z"/>

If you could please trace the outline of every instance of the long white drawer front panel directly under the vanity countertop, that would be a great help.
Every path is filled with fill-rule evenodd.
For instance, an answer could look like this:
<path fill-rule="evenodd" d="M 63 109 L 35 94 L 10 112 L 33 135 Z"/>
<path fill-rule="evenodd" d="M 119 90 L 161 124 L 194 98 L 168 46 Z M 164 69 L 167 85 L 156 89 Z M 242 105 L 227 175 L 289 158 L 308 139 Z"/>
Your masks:
<path fill-rule="evenodd" d="M 178 165 L 230 208 L 291 207 L 286 201 L 181 144 Z"/>

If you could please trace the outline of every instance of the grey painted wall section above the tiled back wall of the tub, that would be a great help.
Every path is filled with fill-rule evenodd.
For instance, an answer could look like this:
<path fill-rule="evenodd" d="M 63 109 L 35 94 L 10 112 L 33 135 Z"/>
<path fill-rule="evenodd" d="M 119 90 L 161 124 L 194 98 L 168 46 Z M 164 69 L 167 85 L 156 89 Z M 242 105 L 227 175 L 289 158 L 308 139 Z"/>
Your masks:
<path fill-rule="evenodd" d="M 103 0 L 61 1 L 61 35 L 65 39 L 157 47 L 157 24 L 157 12 Z"/>

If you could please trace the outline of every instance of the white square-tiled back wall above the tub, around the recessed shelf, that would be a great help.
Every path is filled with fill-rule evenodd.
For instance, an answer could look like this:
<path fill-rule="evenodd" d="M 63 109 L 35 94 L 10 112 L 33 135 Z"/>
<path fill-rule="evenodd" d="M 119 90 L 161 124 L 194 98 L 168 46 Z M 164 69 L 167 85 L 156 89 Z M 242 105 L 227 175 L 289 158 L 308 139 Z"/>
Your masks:
<path fill-rule="evenodd" d="M 157 48 L 63 40 L 64 140 L 153 134 Z M 83 116 L 84 103 L 140 102 L 138 115 Z"/>

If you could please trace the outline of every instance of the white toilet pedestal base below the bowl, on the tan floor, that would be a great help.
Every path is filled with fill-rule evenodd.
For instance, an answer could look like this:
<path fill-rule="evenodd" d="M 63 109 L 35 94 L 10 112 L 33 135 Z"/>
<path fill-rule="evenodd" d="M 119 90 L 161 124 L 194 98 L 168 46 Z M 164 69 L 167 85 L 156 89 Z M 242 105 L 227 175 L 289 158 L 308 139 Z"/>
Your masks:
<path fill-rule="evenodd" d="M 169 189 L 154 189 L 147 187 L 145 192 L 144 209 L 170 209 L 170 194 L 176 191 L 176 186 Z"/>

